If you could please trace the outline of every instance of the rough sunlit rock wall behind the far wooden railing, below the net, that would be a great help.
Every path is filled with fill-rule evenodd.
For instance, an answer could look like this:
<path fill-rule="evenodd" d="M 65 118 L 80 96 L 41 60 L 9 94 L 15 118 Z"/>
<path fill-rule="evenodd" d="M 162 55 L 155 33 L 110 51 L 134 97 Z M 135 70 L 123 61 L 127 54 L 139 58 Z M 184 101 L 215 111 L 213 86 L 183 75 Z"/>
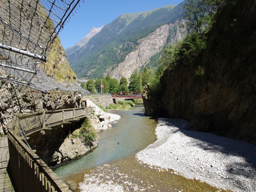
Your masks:
<path fill-rule="evenodd" d="M 0 75 L 6 76 L 0 69 Z M 0 79 L 0 133 L 6 134 L 12 126 L 16 113 L 29 113 L 42 110 L 58 110 L 81 107 L 82 95 L 79 92 L 51 91 L 42 93 L 7 80 Z"/>

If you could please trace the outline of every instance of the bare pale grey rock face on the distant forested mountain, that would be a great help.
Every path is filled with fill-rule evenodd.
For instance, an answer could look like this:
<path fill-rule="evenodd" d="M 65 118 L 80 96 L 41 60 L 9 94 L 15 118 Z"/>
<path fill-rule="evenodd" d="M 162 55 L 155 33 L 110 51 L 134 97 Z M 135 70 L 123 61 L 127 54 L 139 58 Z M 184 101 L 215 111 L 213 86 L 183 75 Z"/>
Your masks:
<path fill-rule="evenodd" d="M 157 28 L 153 33 L 149 34 L 138 41 L 138 46 L 134 51 L 129 53 L 125 60 L 118 65 L 110 74 L 107 69 L 103 76 L 108 74 L 117 80 L 121 77 L 130 78 L 134 70 L 140 69 L 143 65 L 149 63 L 150 58 L 156 53 L 160 52 L 163 46 L 166 44 L 167 39 L 170 38 L 172 44 L 180 41 L 183 38 L 183 29 L 180 28 L 181 21 L 175 23 L 166 24 Z M 176 33 L 173 34 L 171 31 L 176 29 Z M 122 54 L 122 53 L 118 53 Z M 117 54 L 117 56 L 118 56 Z"/>

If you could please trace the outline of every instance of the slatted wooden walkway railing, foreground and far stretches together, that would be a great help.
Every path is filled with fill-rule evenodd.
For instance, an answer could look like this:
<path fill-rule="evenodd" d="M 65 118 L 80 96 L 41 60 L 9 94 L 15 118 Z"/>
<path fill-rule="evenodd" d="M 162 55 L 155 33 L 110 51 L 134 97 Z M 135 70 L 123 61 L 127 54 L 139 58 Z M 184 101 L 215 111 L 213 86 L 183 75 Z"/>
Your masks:
<path fill-rule="evenodd" d="M 90 112 L 95 112 L 95 107 L 41 111 L 17 114 L 15 116 L 13 126 L 8 130 L 7 136 L 10 154 L 9 164 L 19 192 L 77 191 L 77 185 L 74 182 L 64 183 L 35 154 L 27 143 L 27 139 L 29 139 L 27 136 L 39 133 L 44 134 L 45 130 L 51 130 L 56 126 L 62 127 L 61 125 L 65 123 L 71 123 L 72 121 L 88 117 Z M 7 161 L 8 158 L 6 157 Z M 2 167 L 0 168 L 2 169 Z M 6 179 L 6 182 L 9 182 L 9 180 Z M 8 189 L 12 190 L 12 188 Z M 8 191 L 6 186 L 0 186 L 0 191 L 2 190 Z"/>

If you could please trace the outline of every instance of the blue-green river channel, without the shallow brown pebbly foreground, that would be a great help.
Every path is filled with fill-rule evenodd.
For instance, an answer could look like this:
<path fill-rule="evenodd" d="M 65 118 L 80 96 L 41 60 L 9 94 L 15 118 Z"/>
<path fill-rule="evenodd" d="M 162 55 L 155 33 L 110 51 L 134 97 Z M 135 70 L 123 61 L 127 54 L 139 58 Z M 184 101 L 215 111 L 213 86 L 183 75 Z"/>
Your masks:
<path fill-rule="evenodd" d="M 99 144 L 96 149 L 75 160 L 53 167 L 54 172 L 61 179 L 135 155 L 155 142 L 157 121 L 152 117 L 144 116 L 143 105 L 135 105 L 130 110 L 110 112 L 119 114 L 121 119 L 112 124 L 112 128 L 98 133 Z"/>

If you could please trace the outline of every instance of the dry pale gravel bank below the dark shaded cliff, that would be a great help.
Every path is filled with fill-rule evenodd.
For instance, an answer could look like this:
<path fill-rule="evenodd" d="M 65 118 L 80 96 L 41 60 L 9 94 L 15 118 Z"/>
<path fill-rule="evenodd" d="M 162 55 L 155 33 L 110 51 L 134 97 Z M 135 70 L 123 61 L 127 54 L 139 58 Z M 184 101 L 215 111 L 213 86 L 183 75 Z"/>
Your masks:
<path fill-rule="evenodd" d="M 136 157 L 218 188 L 256 191 L 255 145 L 187 128 L 186 120 L 159 118 L 157 141 Z"/>

